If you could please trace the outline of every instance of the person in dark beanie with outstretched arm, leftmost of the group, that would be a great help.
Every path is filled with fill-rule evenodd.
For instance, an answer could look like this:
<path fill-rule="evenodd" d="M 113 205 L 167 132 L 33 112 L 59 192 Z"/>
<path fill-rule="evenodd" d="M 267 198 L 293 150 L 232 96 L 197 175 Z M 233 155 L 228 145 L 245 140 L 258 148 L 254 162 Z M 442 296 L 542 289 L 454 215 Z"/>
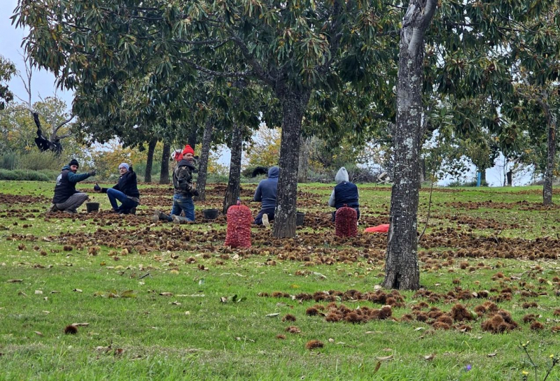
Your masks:
<path fill-rule="evenodd" d="M 95 170 L 78 175 L 76 172 L 78 172 L 79 167 L 80 164 L 76 159 L 71 159 L 68 165 L 62 167 L 62 172 L 58 175 L 55 185 L 55 196 L 52 197 L 52 204 L 50 204 L 47 213 L 57 210 L 71 214 L 77 213 L 76 208 L 87 200 L 86 193 L 76 190 L 76 183 L 94 176 Z"/>

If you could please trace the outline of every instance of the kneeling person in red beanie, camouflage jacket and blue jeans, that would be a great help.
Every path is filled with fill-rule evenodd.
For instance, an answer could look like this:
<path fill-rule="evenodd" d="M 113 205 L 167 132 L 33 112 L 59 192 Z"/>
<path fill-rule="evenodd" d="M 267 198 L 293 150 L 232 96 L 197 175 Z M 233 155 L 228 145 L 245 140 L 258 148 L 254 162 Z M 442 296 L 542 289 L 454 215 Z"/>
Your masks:
<path fill-rule="evenodd" d="M 198 191 L 193 185 L 193 171 L 195 170 L 195 150 L 190 145 L 186 145 L 181 154 L 177 154 L 174 159 L 178 161 L 173 170 L 173 206 L 170 215 L 155 210 L 153 221 L 159 220 L 176 222 L 195 221 L 195 203 L 193 196 L 198 196 Z M 181 217 L 181 212 L 185 212 L 185 217 Z"/>

